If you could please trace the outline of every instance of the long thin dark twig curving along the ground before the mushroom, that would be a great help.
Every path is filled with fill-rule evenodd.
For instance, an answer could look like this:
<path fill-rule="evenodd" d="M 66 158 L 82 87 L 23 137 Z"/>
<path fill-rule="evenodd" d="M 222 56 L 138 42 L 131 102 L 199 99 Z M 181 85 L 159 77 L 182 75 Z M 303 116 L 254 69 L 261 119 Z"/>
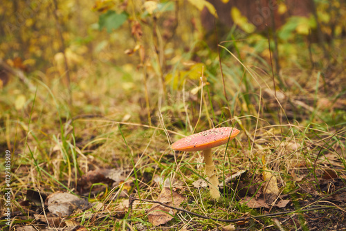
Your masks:
<path fill-rule="evenodd" d="M 132 198 L 134 201 L 145 201 L 145 202 L 149 202 L 149 203 L 157 203 L 159 205 L 162 205 L 164 207 L 169 207 L 173 210 L 178 210 L 181 212 L 186 212 L 188 214 L 192 214 L 194 216 L 198 216 L 201 217 L 203 219 L 210 219 L 212 221 L 221 221 L 221 222 L 237 222 L 237 221 L 246 221 L 246 220 L 250 220 L 250 219 L 258 219 L 258 218 L 262 218 L 262 217 L 269 217 L 269 216 L 279 216 L 279 215 L 283 215 L 283 214 L 291 214 L 291 213 L 296 213 L 296 212 L 309 212 L 309 211 L 315 211 L 315 210 L 327 210 L 327 209 L 332 209 L 332 208 L 336 208 L 334 206 L 323 206 L 323 207 L 316 207 L 316 208 L 311 208 L 308 210 L 294 210 L 294 211 L 286 211 L 286 212 L 277 212 L 277 213 L 272 213 L 272 214 L 263 214 L 263 215 L 258 215 L 258 216 L 248 216 L 248 217 L 243 217 L 243 218 L 239 218 L 239 219 L 219 219 L 219 218 L 213 218 L 213 217 L 209 217 L 209 216 L 203 216 L 200 214 L 197 214 L 195 212 L 191 212 L 188 210 L 184 210 L 181 209 L 179 207 L 173 207 L 170 205 L 166 205 L 165 203 L 162 203 L 160 201 L 151 201 L 151 200 L 147 200 L 147 199 L 138 199 L 138 198 Z M 338 209 L 346 207 L 346 205 L 344 206 L 338 206 Z"/>

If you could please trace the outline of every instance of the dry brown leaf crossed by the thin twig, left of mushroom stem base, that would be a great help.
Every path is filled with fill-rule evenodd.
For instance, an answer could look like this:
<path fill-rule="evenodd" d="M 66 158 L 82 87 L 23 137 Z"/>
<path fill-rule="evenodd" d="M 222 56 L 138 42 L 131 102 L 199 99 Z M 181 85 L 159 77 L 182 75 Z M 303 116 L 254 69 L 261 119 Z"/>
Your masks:
<path fill-rule="evenodd" d="M 174 192 L 169 187 L 164 187 L 157 201 L 165 203 L 173 207 L 179 207 L 179 205 L 185 201 L 185 197 L 181 194 Z M 162 205 L 153 205 L 148 212 L 148 220 L 153 225 L 163 225 L 173 219 L 176 210 L 170 207 L 164 207 Z"/>

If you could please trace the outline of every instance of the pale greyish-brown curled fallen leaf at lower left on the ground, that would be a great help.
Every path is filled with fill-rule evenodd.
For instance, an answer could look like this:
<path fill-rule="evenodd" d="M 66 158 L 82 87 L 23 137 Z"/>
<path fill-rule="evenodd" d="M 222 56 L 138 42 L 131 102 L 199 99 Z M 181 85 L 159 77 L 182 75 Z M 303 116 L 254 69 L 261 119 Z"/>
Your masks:
<path fill-rule="evenodd" d="M 47 197 L 46 205 L 52 214 L 69 216 L 74 210 L 85 210 L 89 202 L 67 192 L 55 192 Z"/>

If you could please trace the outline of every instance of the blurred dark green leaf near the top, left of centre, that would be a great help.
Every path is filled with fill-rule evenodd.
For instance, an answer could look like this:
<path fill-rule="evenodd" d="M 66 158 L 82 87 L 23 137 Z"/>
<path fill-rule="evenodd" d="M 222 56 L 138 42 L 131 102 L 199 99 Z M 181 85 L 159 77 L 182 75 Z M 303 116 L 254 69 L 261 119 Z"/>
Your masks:
<path fill-rule="evenodd" d="M 126 12 L 117 14 L 114 10 L 108 10 L 106 13 L 100 15 L 98 20 L 98 24 L 100 25 L 99 30 L 106 28 L 107 33 L 111 33 L 112 30 L 116 30 L 122 26 L 128 17 L 129 15 Z"/>

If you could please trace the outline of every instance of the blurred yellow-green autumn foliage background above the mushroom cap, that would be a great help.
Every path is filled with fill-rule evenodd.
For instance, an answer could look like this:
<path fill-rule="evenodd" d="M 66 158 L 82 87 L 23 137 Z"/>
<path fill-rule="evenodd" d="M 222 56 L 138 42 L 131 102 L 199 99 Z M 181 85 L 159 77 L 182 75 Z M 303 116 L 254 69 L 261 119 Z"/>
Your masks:
<path fill-rule="evenodd" d="M 5 0 L 0 12 L 7 147 L 11 118 L 37 140 L 82 114 L 183 133 L 235 115 L 345 124 L 345 1 Z"/>

